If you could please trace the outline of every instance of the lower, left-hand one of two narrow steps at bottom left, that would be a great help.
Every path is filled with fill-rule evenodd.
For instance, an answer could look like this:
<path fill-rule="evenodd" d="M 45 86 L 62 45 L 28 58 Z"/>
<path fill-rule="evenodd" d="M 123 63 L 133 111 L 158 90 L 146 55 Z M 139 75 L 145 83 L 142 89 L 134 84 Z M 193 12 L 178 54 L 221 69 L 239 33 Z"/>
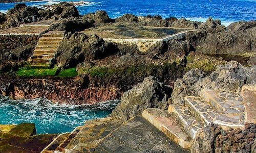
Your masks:
<path fill-rule="evenodd" d="M 63 143 L 71 133 L 63 133 L 60 134 L 57 138 L 55 138 L 41 153 L 54 153 L 54 150 Z"/>

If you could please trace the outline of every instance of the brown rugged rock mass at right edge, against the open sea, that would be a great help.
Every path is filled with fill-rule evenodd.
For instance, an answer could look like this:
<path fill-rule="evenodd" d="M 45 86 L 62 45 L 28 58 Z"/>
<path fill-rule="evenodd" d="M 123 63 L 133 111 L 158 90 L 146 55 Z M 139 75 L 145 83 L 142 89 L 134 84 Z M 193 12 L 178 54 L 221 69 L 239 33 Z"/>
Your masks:
<path fill-rule="evenodd" d="M 189 32 L 184 39 L 188 40 L 198 53 L 253 57 L 256 52 L 256 21 L 232 23 L 226 30 L 217 23 L 208 19 L 204 25 L 200 25 L 200 31 Z"/>

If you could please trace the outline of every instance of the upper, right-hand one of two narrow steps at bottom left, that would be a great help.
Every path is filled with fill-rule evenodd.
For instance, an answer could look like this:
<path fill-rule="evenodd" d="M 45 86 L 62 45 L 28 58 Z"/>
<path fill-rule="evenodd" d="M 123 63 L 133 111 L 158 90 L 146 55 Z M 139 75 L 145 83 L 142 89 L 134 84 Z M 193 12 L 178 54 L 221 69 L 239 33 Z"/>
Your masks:
<path fill-rule="evenodd" d="M 54 152 L 65 152 L 65 147 L 73 140 L 73 138 L 83 129 L 83 126 L 76 127 L 72 133 L 56 148 Z"/>

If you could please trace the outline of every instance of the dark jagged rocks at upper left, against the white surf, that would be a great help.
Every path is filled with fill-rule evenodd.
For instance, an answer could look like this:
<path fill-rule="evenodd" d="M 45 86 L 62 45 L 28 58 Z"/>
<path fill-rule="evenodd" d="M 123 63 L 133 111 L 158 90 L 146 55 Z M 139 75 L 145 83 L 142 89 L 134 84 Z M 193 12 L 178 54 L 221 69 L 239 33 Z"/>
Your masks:
<path fill-rule="evenodd" d="M 8 10 L 3 29 L 18 27 L 23 23 L 36 22 L 46 19 L 58 20 L 68 17 L 78 17 L 77 9 L 69 3 L 59 3 L 51 6 L 51 9 L 44 10 L 37 7 L 27 7 L 25 4 L 17 4 L 13 9 Z"/>

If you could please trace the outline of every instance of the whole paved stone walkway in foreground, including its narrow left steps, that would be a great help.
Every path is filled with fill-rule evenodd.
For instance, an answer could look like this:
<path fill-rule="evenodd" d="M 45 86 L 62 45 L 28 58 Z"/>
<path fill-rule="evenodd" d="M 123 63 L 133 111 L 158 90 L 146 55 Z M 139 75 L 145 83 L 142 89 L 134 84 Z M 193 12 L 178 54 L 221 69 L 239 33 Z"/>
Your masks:
<path fill-rule="evenodd" d="M 54 144 L 50 144 L 43 152 L 188 152 L 142 116 L 126 123 L 112 118 L 89 120 L 84 126 L 75 129 L 58 147 L 55 145 L 55 150 L 49 150 Z"/>

